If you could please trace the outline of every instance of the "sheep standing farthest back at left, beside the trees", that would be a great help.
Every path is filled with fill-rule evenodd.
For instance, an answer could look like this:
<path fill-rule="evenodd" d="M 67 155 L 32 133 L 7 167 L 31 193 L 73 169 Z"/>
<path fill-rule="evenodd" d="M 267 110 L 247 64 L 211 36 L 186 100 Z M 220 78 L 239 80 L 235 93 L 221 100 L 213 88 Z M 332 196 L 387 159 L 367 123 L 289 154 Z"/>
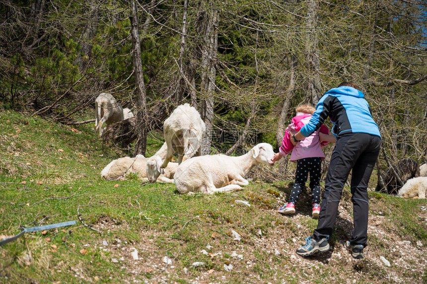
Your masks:
<path fill-rule="evenodd" d="M 102 134 L 104 123 L 109 125 L 123 119 L 123 108 L 111 94 L 101 93 L 95 99 L 95 133 L 99 136 Z"/>

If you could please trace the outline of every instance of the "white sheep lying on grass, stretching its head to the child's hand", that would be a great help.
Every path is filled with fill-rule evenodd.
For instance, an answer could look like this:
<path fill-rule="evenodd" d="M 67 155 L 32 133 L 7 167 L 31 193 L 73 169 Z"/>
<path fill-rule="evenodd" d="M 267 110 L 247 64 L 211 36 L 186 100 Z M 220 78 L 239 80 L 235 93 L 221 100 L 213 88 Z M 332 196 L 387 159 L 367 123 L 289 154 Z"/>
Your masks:
<path fill-rule="evenodd" d="M 269 143 L 255 145 L 244 155 L 205 155 L 188 159 L 175 172 L 175 186 L 180 193 L 203 192 L 213 194 L 242 189 L 248 185 L 244 179 L 252 167 L 259 163 L 274 165 L 274 151 Z"/>

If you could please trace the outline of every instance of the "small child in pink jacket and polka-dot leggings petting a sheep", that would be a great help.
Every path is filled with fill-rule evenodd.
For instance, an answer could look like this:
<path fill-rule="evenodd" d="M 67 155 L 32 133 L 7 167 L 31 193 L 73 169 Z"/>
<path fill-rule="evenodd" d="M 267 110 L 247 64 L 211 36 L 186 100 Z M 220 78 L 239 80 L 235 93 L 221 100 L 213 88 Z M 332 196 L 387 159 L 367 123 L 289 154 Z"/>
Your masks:
<path fill-rule="evenodd" d="M 279 213 L 295 213 L 295 202 L 304 188 L 308 173 L 310 173 L 312 216 L 313 218 L 319 217 L 321 164 L 325 159 L 322 147 L 329 142 L 335 142 L 335 137 L 328 135 L 328 128 L 322 124 L 317 131 L 296 143 L 295 146 L 290 142 L 292 135 L 308 123 L 314 111 L 315 108 L 311 105 L 300 105 L 296 108 L 296 116 L 292 118 L 291 124 L 285 130 L 279 153 L 273 158 L 273 161 L 280 160 L 292 151 L 290 160 L 296 163 L 295 183 L 292 186 L 288 202 L 279 209 Z"/>

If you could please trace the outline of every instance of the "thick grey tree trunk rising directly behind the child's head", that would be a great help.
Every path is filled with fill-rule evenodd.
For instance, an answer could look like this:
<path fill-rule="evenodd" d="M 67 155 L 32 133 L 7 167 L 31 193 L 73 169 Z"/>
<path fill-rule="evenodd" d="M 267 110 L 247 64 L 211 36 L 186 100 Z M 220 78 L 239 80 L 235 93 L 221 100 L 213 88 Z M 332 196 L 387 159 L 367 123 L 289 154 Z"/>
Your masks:
<path fill-rule="evenodd" d="M 310 98 L 310 103 L 313 105 L 317 104 L 321 94 L 320 84 L 320 61 L 319 61 L 319 50 L 318 50 L 318 39 L 317 39 L 317 0 L 308 1 L 308 12 L 307 12 L 307 32 L 306 39 L 306 52 L 307 52 L 307 69 L 308 69 L 308 86 L 307 94 Z"/>

